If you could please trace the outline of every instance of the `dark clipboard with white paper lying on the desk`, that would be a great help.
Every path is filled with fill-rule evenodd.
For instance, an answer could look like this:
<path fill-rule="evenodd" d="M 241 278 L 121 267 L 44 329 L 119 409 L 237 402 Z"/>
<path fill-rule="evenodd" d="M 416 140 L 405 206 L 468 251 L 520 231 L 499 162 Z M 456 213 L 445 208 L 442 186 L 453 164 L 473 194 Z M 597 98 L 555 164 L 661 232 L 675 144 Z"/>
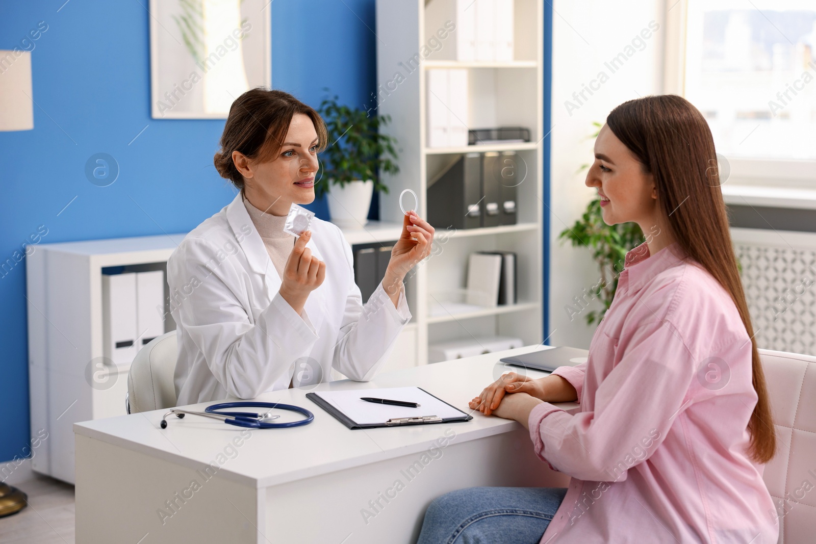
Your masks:
<path fill-rule="evenodd" d="M 419 408 L 379 405 L 360 400 L 374 396 L 392 400 L 419 402 Z M 349 429 L 399 427 L 428 423 L 470 421 L 473 416 L 450 405 L 422 387 L 387 387 L 383 389 L 354 389 L 347 391 L 319 391 L 306 393 L 306 398 L 326 410 Z M 392 416 L 392 417 L 389 417 Z M 370 421 L 371 419 L 376 421 Z M 367 419 L 367 420 L 366 420 Z"/>

